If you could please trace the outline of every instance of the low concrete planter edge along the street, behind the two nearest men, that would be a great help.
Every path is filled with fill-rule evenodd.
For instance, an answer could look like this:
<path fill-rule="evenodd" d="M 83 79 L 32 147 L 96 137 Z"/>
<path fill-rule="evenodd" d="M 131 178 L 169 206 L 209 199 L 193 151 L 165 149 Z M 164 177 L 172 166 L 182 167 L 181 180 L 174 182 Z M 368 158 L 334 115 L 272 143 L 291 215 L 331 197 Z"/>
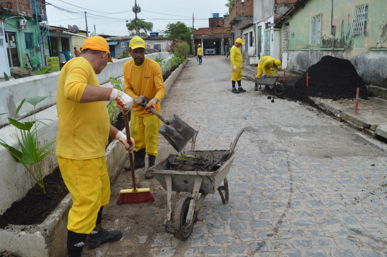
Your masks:
<path fill-rule="evenodd" d="M 164 82 L 166 94 L 186 62 L 180 64 Z M 123 133 L 125 133 L 125 129 L 123 129 Z M 118 140 L 113 140 L 108 145 L 105 159 L 111 180 L 117 175 L 127 156 L 128 152 Z M 2 242 L 0 252 L 7 250 L 20 257 L 67 256 L 67 216 L 71 206 L 71 195 L 67 194 L 41 224 L 10 225 L 4 230 L 0 230 L 0 242 Z"/>

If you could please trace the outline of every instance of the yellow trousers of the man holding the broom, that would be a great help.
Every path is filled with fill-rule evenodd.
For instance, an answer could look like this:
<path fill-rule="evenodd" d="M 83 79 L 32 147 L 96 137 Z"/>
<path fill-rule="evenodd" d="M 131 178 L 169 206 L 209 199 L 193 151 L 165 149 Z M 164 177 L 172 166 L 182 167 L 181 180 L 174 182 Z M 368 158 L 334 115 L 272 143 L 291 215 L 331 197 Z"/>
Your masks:
<path fill-rule="evenodd" d="M 57 156 L 60 173 L 70 191 L 73 205 L 67 229 L 89 234 L 96 226 L 98 211 L 109 203 L 110 180 L 105 157 L 73 160 Z"/>

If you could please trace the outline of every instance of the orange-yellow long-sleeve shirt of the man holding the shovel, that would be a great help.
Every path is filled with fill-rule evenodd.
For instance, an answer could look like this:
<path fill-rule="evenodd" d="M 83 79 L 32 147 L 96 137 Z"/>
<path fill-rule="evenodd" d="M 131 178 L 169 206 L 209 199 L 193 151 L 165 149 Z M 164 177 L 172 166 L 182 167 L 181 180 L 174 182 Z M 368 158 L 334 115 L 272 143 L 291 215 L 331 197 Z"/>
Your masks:
<path fill-rule="evenodd" d="M 161 67 L 156 61 L 145 58 L 142 65 L 137 66 L 134 60 L 127 61 L 123 66 L 124 91 L 133 99 L 140 95 L 146 95 L 149 100 L 157 98 L 156 110 L 160 112 L 160 100 L 165 95 L 163 75 Z M 136 116 L 151 116 L 152 112 L 147 112 L 144 107 L 133 103 L 132 112 Z"/>

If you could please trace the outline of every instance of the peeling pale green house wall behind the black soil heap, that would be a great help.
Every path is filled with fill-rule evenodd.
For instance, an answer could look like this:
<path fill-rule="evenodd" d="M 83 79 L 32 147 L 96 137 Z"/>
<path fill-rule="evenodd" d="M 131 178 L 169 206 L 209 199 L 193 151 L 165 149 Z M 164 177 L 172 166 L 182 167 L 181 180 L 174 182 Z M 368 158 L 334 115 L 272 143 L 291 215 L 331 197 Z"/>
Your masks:
<path fill-rule="evenodd" d="M 365 32 L 351 35 L 352 9 L 365 3 L 368 5 Z M 318 14 L 321 14 L 321 42 L 319 45 L 311 46 L 310 17 Z M 329 54 L 350 60 L 366 83 L 387 88 L 386 1 L 310 0 L 282 25 L 285 26 L 287 23 L 289 23 L 289 69 L 306 71 L 322 56 Z M 331 35 L 331 25 L 336 26 L 335 35 Z"/>

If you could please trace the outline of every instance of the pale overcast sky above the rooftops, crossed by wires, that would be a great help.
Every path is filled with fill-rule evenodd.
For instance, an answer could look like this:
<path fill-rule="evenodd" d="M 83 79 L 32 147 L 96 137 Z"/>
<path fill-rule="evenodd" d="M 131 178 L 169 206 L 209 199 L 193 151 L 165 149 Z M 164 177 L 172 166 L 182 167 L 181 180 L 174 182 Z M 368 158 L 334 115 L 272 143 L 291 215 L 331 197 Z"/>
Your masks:
<path fill-rule="evenodd" d="M 85 11 L 88 31 L 110 36 L 127 36 L 126 20 L 135 18 L 132 11 L 134 0 L 46 0 L 48 24 L 53 26 L 76 25 L 86 30 Z M 48 4 L 50 3 L 50 4 Z M 194 13 L 195 29 L 208 27 L 208 18 L 213 13 L 223 17 L 228 12 L 224 4 L 227 0 L 137 0 L 141 12 L 137 18 L 153 23 L 153 31 L 162 31 L 168 23 L 184 22 L 192 27 Z M 149 34 L 149 32 L 148 32 Z"/>

